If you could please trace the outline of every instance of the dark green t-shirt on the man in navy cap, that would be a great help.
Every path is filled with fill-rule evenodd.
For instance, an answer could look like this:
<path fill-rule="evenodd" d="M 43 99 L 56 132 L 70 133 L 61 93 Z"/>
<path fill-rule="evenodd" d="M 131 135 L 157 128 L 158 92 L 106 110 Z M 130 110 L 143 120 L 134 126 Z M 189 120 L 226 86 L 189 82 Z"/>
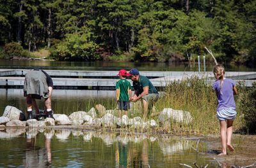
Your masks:
<path fill-rule="evenodd" d="M 139 81 L 133 81 L 132 83 L 134 90 L 141 94 L 144 87 L 148 87 L 148 94 L 158 94 L 156 88 L 152 85 L 151 81 L 146 76 L 141 76 Z"/>

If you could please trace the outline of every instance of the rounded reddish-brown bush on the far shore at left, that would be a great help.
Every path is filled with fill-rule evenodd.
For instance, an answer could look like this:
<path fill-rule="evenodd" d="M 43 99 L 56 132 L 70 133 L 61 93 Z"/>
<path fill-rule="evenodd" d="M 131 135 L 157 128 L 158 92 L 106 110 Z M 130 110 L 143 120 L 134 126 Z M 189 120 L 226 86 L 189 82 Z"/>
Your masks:
<path fill-rule="evenodd" d="M 23 49 L 23 47 L 16 42 L 6 43 L 4 45 L 4 53 L 8 58 L 11 57 L 28 57 L 29 53 Z"/>

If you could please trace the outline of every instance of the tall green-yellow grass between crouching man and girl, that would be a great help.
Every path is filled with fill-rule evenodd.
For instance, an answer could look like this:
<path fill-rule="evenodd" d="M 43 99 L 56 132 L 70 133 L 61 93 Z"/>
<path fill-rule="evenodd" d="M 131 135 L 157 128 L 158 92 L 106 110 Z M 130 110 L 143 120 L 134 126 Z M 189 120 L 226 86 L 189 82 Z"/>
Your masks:
<path fill-rule="evenodd" d="M 168 130 L 176 133 L 186 134 L 218 134 L 220 123 L 216 118 L 216 108 L 218 105 L 215 92 L 212 86 L 206 83 L 207 76 L 200 78 L 191 76 L 183 80 L 174 81 L 166 88 L 166 96 L 157 101 L 157 109 L 172 108 L 189 111 L 193 117 L 192 122 L 177 123 L 170 120 Z M 239 90 L 239 94 L 244 95 L 244 87 Z M 239 95 L 236 104 L 240 107 Z M 237 108 L 237 118 L 234 122 L 234 130 L 243 126 L 241 108 Z"/>

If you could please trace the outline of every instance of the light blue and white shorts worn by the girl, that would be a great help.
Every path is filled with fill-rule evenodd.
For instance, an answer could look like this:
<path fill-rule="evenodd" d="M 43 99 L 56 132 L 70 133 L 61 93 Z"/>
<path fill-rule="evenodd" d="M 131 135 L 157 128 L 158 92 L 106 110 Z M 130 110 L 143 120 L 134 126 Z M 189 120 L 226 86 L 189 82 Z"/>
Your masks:
<path fill-rule="evenodd" d="M 219 111 L 217 111 L 216 116 L 221 121 L 235 120 L 235 118 L 236 118 L 236 108 L 222 108 Z"/>

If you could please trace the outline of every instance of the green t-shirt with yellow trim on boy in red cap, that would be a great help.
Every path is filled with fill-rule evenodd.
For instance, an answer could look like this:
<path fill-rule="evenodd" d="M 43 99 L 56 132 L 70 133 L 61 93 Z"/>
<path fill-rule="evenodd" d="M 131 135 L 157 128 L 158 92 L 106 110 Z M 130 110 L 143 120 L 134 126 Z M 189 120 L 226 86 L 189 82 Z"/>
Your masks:
<path fill-rule="evenodd" d="M 116 89 L 119 89 L 118 101 L 129 101 L 129 90 L 131 83 L 126 79 L 116 81 Z"/>

